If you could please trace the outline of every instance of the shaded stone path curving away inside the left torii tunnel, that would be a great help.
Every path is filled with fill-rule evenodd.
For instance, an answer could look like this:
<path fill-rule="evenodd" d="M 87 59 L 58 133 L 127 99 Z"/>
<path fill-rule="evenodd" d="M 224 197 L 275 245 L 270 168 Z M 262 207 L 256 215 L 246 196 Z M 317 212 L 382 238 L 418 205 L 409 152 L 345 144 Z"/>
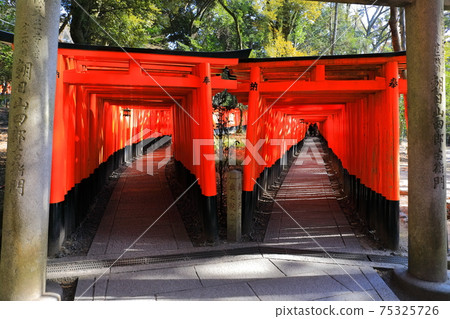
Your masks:
<path fill-rule="evenodd" d="M 103 258 L 125 250 L 124 257 L 139 252 L 155 255 L 192 247 L 176 205 L 172 205 L 165 166 L 158 168 L 167 156 L 170 158 L 170 146 L 137 158 L 121 174 L 88 256 Z"/>

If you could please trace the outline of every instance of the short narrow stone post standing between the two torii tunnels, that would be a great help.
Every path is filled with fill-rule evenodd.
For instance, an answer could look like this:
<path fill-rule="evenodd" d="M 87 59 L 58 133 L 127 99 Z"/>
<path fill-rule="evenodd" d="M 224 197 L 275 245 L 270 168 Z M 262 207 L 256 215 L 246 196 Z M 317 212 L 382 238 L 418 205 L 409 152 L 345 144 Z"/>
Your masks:
<path fill-rule="evenodd" d="M 228 172 L 227 176 L 227 239 L 241 240 L 242 218 L 242 173 L 238 170 Z"/>

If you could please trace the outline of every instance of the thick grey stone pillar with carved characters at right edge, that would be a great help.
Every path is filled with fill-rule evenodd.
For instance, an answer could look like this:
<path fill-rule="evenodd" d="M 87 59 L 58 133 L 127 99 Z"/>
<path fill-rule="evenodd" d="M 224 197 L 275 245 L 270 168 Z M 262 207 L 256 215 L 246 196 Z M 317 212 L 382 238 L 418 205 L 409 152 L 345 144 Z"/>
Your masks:
<path fill-rule="evenodd" d="M 408 273 L 447 280 L 443 0 L 406 7 L 408 64 Z"/>

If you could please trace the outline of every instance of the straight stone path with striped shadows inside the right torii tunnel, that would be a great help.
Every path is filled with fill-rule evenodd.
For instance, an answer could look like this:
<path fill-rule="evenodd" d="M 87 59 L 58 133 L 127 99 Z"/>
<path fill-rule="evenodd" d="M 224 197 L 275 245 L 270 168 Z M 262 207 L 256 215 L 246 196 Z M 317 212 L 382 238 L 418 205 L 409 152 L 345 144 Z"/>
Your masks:
<path fill-rule="evenodd" d="M 280 190 L 265 243 L 297 249 L 361 250 L 334 195 L 318 138 L 306 138 Z"/>

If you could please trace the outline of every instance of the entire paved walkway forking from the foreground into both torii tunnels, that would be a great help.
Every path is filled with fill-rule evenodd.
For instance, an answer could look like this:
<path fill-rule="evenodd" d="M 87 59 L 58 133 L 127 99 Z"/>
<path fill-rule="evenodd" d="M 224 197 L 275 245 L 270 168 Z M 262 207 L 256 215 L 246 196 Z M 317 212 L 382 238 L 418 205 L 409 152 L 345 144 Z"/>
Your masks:
<path fill-rule="evenodd" d="M 162 158 L 163 150 L 157 154 Z M 274 205 L 260 247 L 361 250 L 333 196 L 321 154 L 318 140 L 307 139 L 278 192 L 282 208 Z M 87 259 L 116 258 L 128 249 L 123 258 L 161 255 L 162 261 L 80 277 L 76 300 L 397 300 L 368 263 L 244 252 L 257 243 L 192 247 L 175 207 L 154 223 L 173 199 L 164 168 L 150 176 L 136 169 L 139 161 L 146 156 L 122 174 Z M 230 247 L 244 250 L 207 255 Z M 197 258 L 164 260 L 177 253 Z"/>

